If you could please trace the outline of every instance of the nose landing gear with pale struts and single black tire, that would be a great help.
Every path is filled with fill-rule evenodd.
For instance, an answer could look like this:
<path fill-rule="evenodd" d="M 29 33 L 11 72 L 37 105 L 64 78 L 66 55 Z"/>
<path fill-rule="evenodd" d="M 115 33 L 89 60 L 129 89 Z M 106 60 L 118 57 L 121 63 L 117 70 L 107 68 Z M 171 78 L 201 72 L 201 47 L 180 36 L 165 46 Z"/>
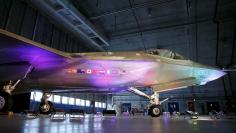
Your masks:
<path fill-rule="evenodd" d="M 128 91 L 137 94 L 139 96 L 143 96 L 149 99 L 150 104 L 148 105 L 148 114 L 152 117 L 159 117 L 162 114 L 161 104 L 168 100 L 168 98 L 164 99 L 163 101 L 159 101 L 159 93 L 154 92 L 152 95 L 147 95 L 146 93 L 134 88 L 130 87 Z"/>

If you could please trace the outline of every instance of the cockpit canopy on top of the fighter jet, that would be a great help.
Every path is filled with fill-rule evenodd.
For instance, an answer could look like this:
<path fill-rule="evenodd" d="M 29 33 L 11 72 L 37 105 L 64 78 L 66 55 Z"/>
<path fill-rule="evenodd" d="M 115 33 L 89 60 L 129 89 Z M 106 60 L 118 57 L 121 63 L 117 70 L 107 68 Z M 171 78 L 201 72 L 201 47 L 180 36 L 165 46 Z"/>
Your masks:
<path fill-rule="evenodd" d="M 158 55 L 158 56 L 165 57 L 165 58 L 170 58 L 170 59 L 187 60 L 182 55 L 180 55 L 176 52 L 167 50 L 167 49 L 150 49 L 150 50 L 147 50 L 146 52 L 148 54 Z"/>

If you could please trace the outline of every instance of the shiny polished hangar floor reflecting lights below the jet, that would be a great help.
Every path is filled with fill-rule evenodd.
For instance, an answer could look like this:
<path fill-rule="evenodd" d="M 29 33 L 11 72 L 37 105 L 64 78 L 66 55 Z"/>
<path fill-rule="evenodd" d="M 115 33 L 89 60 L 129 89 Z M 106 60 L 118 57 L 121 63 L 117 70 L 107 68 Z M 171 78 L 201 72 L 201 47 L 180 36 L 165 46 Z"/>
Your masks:
<path fill-rule="evenodd" d="M 23 116 L 0 116 L 0 133 L 236 133 L 236 119 L 197 120 L 189 118 L 93 117 L 65 120 L 40 116 L 29 119 Z"/>

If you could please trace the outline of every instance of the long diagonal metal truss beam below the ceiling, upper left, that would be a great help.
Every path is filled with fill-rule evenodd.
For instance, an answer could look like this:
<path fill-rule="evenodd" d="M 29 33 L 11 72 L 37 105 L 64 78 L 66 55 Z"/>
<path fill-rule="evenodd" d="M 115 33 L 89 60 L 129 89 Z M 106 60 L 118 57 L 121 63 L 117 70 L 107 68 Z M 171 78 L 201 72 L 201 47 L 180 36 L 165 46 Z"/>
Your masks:
<path fill-rule="evenodd" d="M 105 51 L 104 47 L 110 45 L 105 35 L 98 31 L 69 1 L 29 0 L 29 3 L 70 31 L 74 36 L 83 39 L 87 45 L 99 51 Z"/>

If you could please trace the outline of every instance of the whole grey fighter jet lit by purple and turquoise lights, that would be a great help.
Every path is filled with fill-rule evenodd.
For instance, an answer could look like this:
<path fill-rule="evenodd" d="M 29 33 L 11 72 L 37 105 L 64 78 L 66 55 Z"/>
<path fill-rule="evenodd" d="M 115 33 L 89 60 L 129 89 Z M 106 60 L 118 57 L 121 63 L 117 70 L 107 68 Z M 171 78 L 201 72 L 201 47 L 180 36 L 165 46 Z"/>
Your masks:
<path fill-rule="evenodd" d="M 204 85 L 224 75 L 166 49 L 67 53 L 0 30 L 0 111 L 10 108 L 10 95 L 36 88 L 45 94 L 130 91 L 149 99 L 149 114 L 158 117 L 167 100 L 159 101 L 159 93 Z M 152 88 L 153 94 L 140 91 L 144 87 Z M 49 108 L 42 106 L 42 111 L 49 113 Z"/>

